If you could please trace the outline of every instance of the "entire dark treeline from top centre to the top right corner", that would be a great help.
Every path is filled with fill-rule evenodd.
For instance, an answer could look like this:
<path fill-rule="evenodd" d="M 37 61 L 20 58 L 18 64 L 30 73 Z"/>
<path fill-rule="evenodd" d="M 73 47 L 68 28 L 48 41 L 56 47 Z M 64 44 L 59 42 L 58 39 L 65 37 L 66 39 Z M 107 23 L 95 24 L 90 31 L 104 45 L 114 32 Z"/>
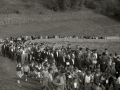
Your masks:
<path fill-rule="evenodd" d="M 106 15 L 120 15 L 120 0 L 43 0 L 43 4 L 54 11 L 80 9 L 85 5 Z"/>

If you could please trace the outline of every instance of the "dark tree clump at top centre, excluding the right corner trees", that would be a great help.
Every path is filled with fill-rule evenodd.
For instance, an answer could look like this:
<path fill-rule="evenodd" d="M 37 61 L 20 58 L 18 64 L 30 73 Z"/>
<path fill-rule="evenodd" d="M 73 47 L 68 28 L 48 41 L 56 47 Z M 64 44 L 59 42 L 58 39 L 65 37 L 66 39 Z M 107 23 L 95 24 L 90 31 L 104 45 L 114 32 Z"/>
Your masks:
<path fill-rule="evenodd" d="M 80 9 L 84 0 L 43 0 L 43 4 L 54 11 Z"/>

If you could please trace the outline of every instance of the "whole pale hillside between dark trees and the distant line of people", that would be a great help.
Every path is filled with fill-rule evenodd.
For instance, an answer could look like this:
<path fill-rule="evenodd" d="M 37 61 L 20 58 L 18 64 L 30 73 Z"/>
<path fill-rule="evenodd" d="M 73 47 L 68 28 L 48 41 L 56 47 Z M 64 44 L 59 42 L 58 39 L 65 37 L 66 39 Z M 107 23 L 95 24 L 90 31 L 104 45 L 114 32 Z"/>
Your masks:
<path fill-rule="evenodd" d="M 119 20 L 95 13 L 85 7 L 79 11 L 53 12 L 38 3 L 34 3 L 34 9 L 32 7 L 25 8 L 26 4 L 29 3 L 22 0 L 4 0 L 3 3 L 2 7 L 6 7 L 6 11 L 9 11 L 8 9 L 11 11 L 18 10 L 20 13 L 0 14 L 0 37 L 20 35 L 120 35 Z"/>

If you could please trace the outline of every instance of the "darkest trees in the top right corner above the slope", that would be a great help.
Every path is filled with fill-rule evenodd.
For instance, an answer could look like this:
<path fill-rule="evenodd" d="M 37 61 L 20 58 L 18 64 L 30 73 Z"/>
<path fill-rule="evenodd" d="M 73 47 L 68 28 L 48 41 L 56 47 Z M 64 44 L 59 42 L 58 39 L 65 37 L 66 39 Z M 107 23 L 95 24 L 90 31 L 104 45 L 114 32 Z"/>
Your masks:
<path fill-rule="evenodd" d="M 86 0 L 84 4 L 105 15 L 120 16 L 120 0 Z"/>

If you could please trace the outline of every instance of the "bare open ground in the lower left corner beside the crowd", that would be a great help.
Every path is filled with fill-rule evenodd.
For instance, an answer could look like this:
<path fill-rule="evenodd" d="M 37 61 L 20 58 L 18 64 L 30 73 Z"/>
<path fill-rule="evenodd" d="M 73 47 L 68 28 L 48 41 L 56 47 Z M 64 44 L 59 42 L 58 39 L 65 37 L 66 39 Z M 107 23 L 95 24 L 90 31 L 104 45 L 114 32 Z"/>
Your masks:
<path fill-rule="evenodd" d="M 0 57 L 0 90 L 40 90 L 38 80 L 25 82 L 23 77 L 18 84 L 15 67 L 15 61 Z"/>

